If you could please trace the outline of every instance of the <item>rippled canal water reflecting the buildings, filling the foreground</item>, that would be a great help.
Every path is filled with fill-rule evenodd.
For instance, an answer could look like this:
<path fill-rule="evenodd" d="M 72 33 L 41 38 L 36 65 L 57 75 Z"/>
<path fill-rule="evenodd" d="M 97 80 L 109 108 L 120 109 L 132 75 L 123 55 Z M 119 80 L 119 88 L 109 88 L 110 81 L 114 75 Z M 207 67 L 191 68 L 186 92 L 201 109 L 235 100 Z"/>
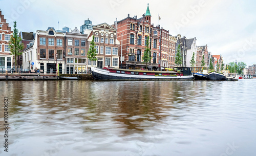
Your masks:
<path fill-rule="evenodd" d="M 0 90 L 9 102 L 0 155 L 255 155 L 256 79 L 2 81 Z"/>

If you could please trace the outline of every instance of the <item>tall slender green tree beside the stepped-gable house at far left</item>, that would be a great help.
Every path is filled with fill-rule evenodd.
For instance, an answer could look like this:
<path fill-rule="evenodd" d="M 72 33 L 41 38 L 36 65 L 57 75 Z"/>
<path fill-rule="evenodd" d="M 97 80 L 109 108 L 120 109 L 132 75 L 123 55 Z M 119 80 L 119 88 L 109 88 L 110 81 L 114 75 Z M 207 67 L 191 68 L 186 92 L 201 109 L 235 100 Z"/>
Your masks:
<path fill-rule="evenodd" d="M 10 51 L 11 54 L 14 57 L 14 62 L 15 62 L 15 71 L 17 71 L 17 57 L 19 55 L 22 55 L 22 50 L 24 49 L 24 44 L 22 43 L 22 38 L 18 36 L 18 29 L 16 28 L 17 23 L 16 21 L 14 23 L 14 29 L 13 29 L 13 35 L 11 36 L 10 39 Z"/>

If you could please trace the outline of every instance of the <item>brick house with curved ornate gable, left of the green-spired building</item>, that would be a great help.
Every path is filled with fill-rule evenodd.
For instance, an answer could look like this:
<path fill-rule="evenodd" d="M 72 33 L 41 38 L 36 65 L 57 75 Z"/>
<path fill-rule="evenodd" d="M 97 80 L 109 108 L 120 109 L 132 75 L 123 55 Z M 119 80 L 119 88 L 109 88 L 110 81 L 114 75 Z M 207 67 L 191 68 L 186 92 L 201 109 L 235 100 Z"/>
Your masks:
<path fill-rule="evenodd" d="M 106 23 L 93 26 L 88 36 L 88 47 L 90 47 L 93 35 L 97 61 L 88 60 L 88 68 L 90 69 L 92 65 L 98 68 L 108 66 L 119 68 L 120 42 L 117 40 L 116 29 Z"/>

